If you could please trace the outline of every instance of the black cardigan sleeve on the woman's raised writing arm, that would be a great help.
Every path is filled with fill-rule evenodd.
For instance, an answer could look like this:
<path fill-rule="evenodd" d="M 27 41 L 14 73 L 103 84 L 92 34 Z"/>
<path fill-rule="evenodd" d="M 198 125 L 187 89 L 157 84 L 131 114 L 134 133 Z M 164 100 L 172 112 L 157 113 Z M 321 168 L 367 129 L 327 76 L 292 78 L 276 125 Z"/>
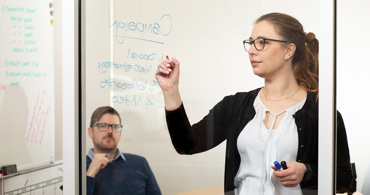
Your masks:
<path fill-rule="evenodd" d="M 179 154 L 196 154 L 210 150 L 226 140 L 229 102 L 226 96 L 198 123 L 191 125 L 184 104 L 172 111 L 166 110 L 166 121 L 175 150 Z"/>

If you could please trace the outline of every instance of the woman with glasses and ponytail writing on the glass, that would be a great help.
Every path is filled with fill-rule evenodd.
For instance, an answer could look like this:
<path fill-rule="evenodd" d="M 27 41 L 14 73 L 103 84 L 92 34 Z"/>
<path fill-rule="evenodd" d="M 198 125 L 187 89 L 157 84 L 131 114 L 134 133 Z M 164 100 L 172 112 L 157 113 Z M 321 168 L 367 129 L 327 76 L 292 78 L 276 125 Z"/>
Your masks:
<path fill-rule="evenodd" d="M 243 44 L 265 86 L 226 96 L 192 126 L 178 90 L 180 63 L 159 64 L 172 143 L 179 154 L 195 154 L 226 139 L 225 193 L 317 194 L 319 42 L 295 18 L 270 13 Z M 344 193 L 353 176 L 339 113 L 337 123 L 337 191 Z M 270 168 L 275 160 L 287 169 Z"/>

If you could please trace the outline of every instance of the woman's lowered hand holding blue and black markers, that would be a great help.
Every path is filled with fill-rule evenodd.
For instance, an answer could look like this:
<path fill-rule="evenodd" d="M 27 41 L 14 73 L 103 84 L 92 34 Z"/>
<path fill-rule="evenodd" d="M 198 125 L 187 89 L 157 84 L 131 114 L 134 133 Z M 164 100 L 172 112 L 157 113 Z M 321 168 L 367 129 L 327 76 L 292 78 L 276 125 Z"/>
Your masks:
<path fill-rule="evenodd" d="M 278 179 L 284 187 L 296 187 L 302 180 L 307 170 L 306 165 L 298 162 L 286 162 L 287 169 L 277 171 L 275 166 L 271 166 L 274 177 Z"/>

